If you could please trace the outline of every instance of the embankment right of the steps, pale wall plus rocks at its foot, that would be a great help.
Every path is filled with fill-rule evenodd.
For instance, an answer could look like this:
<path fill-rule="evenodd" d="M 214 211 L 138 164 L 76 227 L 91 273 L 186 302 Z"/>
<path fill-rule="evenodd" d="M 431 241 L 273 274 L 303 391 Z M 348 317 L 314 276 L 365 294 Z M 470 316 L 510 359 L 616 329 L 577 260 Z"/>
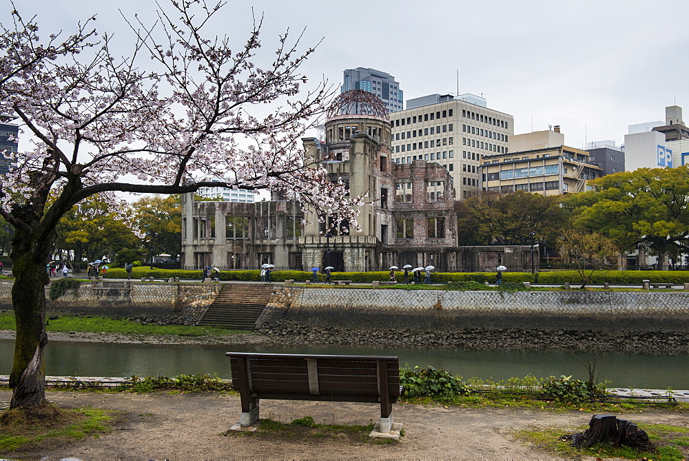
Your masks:
<path fill-rule="evenodd" d="M 689 351 L 689 293 L 278 289 L 257 327 L 282 342 Z"/>

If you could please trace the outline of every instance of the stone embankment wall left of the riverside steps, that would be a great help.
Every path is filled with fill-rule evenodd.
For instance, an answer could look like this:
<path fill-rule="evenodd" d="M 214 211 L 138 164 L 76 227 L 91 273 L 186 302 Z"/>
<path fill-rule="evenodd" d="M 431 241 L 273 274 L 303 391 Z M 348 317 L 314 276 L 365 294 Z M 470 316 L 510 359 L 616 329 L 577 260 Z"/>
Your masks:
<path fill-rule="evenodd" d="M 12 283 L 0 283 L 0 309 L 12 309 L 11 289 Z M 127 317 L 194 325 L 213 303 L 218 291 L 220 284 L 134 282 L 131 289 L 123 289 L 82 283 L 76 291 L 68 289 L 60 298 L 48 300 L 46 310 L 56 314 Z"/>

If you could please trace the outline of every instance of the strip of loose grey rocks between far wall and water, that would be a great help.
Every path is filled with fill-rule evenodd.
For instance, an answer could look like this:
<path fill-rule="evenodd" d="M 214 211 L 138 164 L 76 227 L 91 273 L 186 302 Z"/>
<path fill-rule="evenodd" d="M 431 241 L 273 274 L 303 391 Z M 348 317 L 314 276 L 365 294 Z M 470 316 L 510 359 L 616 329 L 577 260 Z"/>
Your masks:
<path fill-rule="evenodd" d="M 584 331 L 475 328 L 458 331 L 364 330 L 310 327 L 279 320 L 260 334 L 290 345 L 380 345 L 505 350 L 622 351 L 688 354 L 689 331 Z"/>

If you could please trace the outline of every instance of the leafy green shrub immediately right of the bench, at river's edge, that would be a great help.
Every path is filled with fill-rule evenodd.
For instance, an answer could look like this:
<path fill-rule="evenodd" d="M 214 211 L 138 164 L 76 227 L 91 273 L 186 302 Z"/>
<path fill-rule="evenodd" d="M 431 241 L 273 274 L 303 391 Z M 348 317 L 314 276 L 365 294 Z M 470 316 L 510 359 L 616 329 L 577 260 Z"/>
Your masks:
<path fill-rule="evenodd" d="M 469 392 L 462 378 L 433 367 L 400 370 L 400 385 L 404 397 L 448 399 Z"/>

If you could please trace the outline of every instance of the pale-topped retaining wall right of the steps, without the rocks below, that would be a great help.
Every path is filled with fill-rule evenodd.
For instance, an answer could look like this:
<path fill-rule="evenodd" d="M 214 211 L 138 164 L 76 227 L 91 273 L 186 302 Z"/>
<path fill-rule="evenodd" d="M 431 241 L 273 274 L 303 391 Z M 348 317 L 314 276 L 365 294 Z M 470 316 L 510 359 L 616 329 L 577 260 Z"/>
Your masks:
<path fill-rule="evenodd" d="M 290 290 L 282 318 L 313 327 L 689 330 L 686 292 Z"/>

